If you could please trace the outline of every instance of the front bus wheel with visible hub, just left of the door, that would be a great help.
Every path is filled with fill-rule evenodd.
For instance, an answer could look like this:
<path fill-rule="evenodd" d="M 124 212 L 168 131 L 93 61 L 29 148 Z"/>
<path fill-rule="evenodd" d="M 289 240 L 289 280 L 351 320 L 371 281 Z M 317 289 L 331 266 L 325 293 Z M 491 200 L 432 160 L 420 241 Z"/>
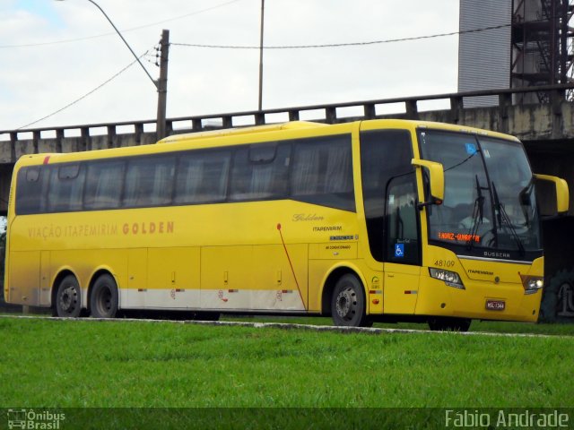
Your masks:
<path fill-rule="evenodd" d="M 331 297 L 333 323 L 347 327 L 372 325 L 366 312 L 365 290 L 355 275 L 347 273 L 335 284 Z"/>

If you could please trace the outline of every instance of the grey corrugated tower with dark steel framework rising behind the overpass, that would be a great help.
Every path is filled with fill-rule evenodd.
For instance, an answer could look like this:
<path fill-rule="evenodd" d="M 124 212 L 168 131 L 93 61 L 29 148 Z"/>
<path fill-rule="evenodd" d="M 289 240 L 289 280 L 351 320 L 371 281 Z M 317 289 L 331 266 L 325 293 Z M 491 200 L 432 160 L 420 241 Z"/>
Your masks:
<path fill-rule="evenodd" d="M 458 90 L 494 90 L 574 82 L 574 1 L 460 1 Z M 572 99 L 574 92 L 563 96 Z M 520 94 L 513 102 L 550 100 L 548 92 Z M 465 107 L 495 105 L 468 99 Z"/>

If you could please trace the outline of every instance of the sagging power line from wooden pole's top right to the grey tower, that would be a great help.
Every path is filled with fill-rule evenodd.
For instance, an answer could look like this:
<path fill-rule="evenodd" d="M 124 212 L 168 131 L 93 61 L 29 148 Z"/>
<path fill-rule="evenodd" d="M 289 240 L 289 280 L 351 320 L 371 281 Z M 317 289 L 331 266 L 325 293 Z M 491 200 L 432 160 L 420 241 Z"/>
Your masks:
<path fill-rule="evenodd" d="M 463 31 L 451 31 L 448 33 L 431 34 L 427 36 L 414 36 L 411 38 L 402 39 L 384 39 L 384 40 L 370 40 L 366 42 L 349 42 L 349 43 L 329 43 L 325 45 L 291 45 L 291 46 L 267 46 L 264 49 L 312 49 L 312 48 L 322 48 L 322 47 L 364 47 L 369 45 L 379 45 L 383 43 L 395 43 L 395 42 L 405 42 L 410 40 L 422 40 L 422 39 L 435 39 L 442 38 L 446 36 L 455 36 L 467 33 L 478 33 L 481 31 L 488 30 L 498 30 L 506 27 L 510 27 L 512 24 L 501 24 L 494 25 L 491 27 L 484 27 L 482 29 L 474 30 L 463 30 Z M 260 49 L 259 46 L 240 46 L 240 45 L 202 45 L 198 43 L 175 43 L 171 42 L 171 45 L 178 47 L 205 47 L 205 48 L 216 48 L 216 49 Z"/>

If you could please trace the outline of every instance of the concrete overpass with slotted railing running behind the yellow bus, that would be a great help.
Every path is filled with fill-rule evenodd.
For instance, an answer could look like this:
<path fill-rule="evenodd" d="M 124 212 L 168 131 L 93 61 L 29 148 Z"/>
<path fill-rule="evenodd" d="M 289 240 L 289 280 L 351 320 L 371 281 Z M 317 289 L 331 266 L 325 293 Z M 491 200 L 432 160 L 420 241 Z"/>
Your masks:
<path fill-rule="evenodd" d="M 570 185 L 574 202 L 574 84 L 511 90 L 484 90 L 402 99 L 379 99 L 320 106 L 290 107 L 208 116 L 170 118 L 168 134 L 213 128 L 264 125 L 292 120 L 335 124 L 357 119 L 410 118 L 474 126 L 517 136 L 536 173 L 561 176 Z M 522 97 L 529 94 L 529 97 Z M 515 104 L 516 99 L 536 99 L 537 104 Z M 465 108 L 465 99 L 497 96 L 492 107 Z M 438 110 L 436 106 L 440 104 Z M 444 108 L 444 106 L 448 108 Z M 433 110 L 435 107 L 435 110 Z M 5 213 L 13 164 L 22 155 L 39 152 L 99 150 L 150 144 L 156 141 L 155 119 L 113 124 L 41 127 L 0 131 L 0 214 Z M 544 247 L 548 274 L 569 271 L 574 277 L 574 204 L 568 217 L 544 221 Z M 558 294 L 558 292 L 556 292 Z M 574 287 L 570 309 L 574 316 Z M 566 298 L 564 298 L 566 300 Z"/>

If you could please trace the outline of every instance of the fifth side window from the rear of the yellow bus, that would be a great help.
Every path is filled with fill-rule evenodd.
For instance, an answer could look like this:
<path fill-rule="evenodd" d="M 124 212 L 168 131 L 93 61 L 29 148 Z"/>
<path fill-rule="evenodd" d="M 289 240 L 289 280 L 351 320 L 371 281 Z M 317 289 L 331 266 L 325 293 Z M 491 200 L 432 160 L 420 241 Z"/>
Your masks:
<path fill-rule="evenodd" d="M 230 150 L 194 150 L 178 158 L 174 202 L 224 202 L 230 172 Z"/>

